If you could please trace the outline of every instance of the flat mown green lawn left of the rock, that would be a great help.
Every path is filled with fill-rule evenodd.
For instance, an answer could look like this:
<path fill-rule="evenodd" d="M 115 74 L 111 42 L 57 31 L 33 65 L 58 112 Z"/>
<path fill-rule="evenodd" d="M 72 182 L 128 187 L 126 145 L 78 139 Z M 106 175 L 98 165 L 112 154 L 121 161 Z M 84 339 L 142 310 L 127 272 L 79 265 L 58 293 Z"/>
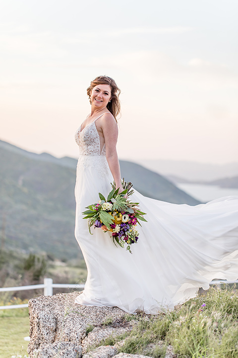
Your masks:
<path fill-rule="evenodd" d="M 14 299 L 11 304 L 20 304 Z M 0 302 L 1 305 L 1 302 Z M 24 337 L 29 336 L 28 308 L 0 310 L 0 357 L 27 356 L 27 345 Z"/>

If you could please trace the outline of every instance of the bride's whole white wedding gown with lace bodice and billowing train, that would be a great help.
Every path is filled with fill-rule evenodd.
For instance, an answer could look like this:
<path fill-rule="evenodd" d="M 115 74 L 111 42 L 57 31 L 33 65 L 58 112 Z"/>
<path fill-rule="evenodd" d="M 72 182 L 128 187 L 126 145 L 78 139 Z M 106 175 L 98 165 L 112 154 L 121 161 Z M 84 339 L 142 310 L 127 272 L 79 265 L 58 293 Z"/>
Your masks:
<path fill-rule="evenodd" d="M 98 119 L 98 118 L 97 118 Z M 97 120 L 96 119 L 96 120 Z M 95 121 L 96 121 L 95 120 Z M 157 314 L 209 288 L 214 278 L 238 278 L 238 196 L 189 206 L 151 199 L 135 190 L 130 200 L 147 213 L 132 255 L 116 247 L 110 234 L 93 229 L 82 219 L 85 207 L 112 190 L 112 174 L 95 121 L 75 134 L 77 164 L 75 237 L 88 276 L 75 302 L 117 306 L 133 313 Z"/>

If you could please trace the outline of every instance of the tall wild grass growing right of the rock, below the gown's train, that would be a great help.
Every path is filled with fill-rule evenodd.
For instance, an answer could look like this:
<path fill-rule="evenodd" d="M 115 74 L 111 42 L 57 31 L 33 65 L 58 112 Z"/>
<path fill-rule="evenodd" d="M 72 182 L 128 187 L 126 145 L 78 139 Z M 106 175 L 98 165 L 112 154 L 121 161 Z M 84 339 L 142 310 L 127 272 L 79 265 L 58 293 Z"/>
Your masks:
<path fill-rule="evenodd" d="M 119 352 L 164 358 L 171 345 L 179 358 L 238 357 L 238 290 L 229 286 L 211 287 L 158 316 L 125 319 L 138 321 L 132 331 L 104 341 L 106 345 L 124 339 Z"/>

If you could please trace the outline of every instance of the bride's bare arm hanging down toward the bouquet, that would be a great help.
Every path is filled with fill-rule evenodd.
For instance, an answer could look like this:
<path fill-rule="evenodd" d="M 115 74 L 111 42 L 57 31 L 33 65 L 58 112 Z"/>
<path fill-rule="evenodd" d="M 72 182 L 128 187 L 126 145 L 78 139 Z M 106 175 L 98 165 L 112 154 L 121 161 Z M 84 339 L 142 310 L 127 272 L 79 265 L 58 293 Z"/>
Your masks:
<path fill-rule="evenodd" d="M 120 193 L 124 189 L 121 185 L 120 165 L 117 153 L 118 125 L 113 115 L 105 113 L 101 121 L 101 128 L 105 139 L 108 165 L 115 180 L 116 188 L 119 188 Z"/>

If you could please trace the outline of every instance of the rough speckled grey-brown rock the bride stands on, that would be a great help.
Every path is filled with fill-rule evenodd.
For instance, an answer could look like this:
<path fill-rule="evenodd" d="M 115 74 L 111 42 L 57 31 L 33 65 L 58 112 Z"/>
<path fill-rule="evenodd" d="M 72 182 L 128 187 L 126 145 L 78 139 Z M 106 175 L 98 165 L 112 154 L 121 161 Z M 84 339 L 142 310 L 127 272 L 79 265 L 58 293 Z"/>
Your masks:
<path fill-rule="evenodd" d="M 118 307 L 75 304 L 78 294 L 58 293 L 29 301 L 29 358 L 146 358 L 119 353 L 119 344 L 113 345 L 113 337 L 130 332 L 136 320 L 128 319 Z M 103 345 L 109 338 L 112 345 Z"/>

